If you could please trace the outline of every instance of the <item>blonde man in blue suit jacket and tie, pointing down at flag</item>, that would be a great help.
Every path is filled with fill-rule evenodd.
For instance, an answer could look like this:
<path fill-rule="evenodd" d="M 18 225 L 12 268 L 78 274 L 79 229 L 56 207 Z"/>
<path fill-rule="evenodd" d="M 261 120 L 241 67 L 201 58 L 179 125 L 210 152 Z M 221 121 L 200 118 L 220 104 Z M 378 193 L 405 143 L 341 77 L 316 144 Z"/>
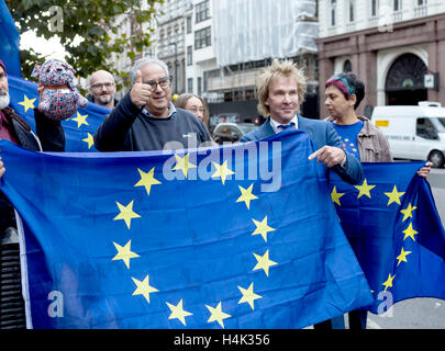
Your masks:
<path fill-rule="evenodd" d="M 287 128 L 305 132 L 312 139 L 316 151 L 309 158 L 318 158 L 327 168 L 338 173 L 351 184 L 363 179 L 360 162 L 346 152 L 332 124 L 300 116 L 298 110 L 304 99 L 305 79 L 292 61 L 275 59 L 259 77 L 258 112 L 267 117 L 258 128 L 244 135 L 240 141 L 262 140 Z"/>

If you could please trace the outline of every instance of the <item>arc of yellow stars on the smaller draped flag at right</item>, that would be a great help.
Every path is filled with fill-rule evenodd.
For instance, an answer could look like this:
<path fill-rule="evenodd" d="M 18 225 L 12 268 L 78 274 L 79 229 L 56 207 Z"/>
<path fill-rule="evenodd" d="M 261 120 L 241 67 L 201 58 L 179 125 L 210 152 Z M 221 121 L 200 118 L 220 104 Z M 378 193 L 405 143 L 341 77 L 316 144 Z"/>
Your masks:
<path fill-rule="evenodd" d="M 357 200 L 360 199 L 361 196 L 367 196 L 369 199 L 372 199 L 371 196 L 371 191 L 374 190 L 374 188 L 376 188 L 376 185 L 374 184 L 368 184 L 367 179 L 364 180 L 364 182 L 361 183 L 361 185 L 354 185 L 355 189 L 358 190 L 358 194 L 357 194 Z M 346 193 L 340 193 L 336 189 L 336 186 L 334 185 L 332 191 L 331 191 L 331 200 L 334 204 L 342 206 L 341 203 L 341 199 L 342 196 L 344 196 Z M 387 206 L 390 206 L 391 204 L 396 203 L 399 206 L 401 206 L 401 201 L 400 199 L 404 195 L 404 192 L 400 192 L 397 189 L 397 185 L 394 185 L 392 188 L 391 192 L 383 192 L 383 194 L 388 197 L 388 203 Z M 419 234 L 419 231 L 416 231 L 413 228 L 413 211 L 418 210 L 416 206 L 412 206 L 411 203 L 409 203 L 409 205 L 407 206 L 407 208 L 402 208 L 400 210 L 400 213 L 403 214 L 403 218 L 402 218 L 402 223 L 404 223 L 407 219 L 411 218 L 411 222 L 408 224 L 408 226 L 404 228 L 404 230 L 402 230 L 403 233 L 403 242 L 408 239 L 411 238 L 414 242 L 415 242 L 415 235 Z M 399 267 L 402 262 L 408 262 L 407 257 L 412 253 L 412 251 L 408 251 L 405 250 L 403 247 L 401 248 L 401 251 L 399 253 L 399 256 L 396 257 L 397 260 L 397 267 Z M 381 284 L 385 286 L 385 292 L 389 288 L 392 287 L 392 281 L 394 280 L 396 274 L 388 274 L 388 279 Z M 374 293 L 374 291 L 371 291 Z"/>

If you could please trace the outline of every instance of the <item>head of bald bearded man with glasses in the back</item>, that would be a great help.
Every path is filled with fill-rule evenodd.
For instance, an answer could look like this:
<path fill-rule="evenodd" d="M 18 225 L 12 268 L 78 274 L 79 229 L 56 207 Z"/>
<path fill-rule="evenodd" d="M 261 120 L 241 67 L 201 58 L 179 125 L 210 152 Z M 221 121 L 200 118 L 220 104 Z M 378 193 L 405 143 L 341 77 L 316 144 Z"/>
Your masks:
<path fill-rule="evenodd" d="M 113 75 L 105 70 L 98 70 L 90 77 L 89 101 L 112 110 L 118 101 L 114 99 L 115 82 Z"/>

